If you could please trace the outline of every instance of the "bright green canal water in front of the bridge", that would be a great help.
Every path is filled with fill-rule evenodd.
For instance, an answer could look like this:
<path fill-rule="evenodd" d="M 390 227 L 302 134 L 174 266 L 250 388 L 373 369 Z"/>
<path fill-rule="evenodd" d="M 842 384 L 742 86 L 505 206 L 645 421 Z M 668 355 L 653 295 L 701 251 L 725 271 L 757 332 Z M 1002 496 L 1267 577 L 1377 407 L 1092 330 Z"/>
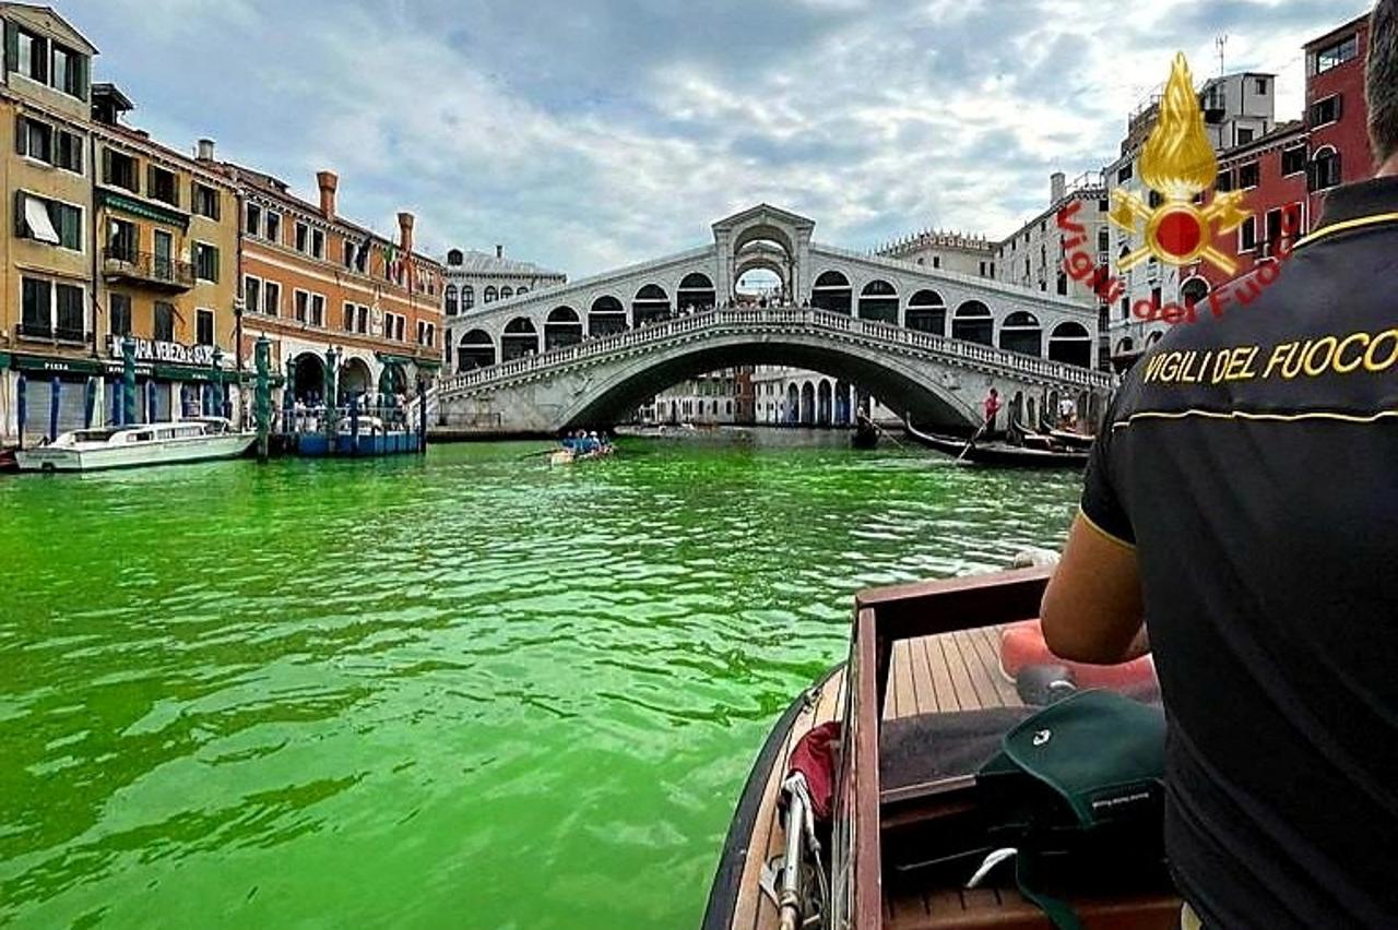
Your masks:
<path fill-rule="evenodd" d="M 0 924 L 696 926 L 853 592 L 1075 508 L 843 441 L 0 478 Z"/>

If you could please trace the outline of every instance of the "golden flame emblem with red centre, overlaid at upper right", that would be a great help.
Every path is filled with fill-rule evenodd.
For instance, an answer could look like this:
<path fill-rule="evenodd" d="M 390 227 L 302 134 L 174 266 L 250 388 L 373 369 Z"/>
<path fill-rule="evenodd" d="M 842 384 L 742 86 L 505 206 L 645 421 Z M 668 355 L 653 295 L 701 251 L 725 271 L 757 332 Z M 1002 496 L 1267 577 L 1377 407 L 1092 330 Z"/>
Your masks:
<path fill-rule="evenodd" d="M 1138 223 L 1145 223 L 1145 246 L 1123 257 L 1117 268 L 1131 271 L 1155 256 L 1167 265 L 1204 260 L 1225 274 L 1236 274 L 1237 264 L 1213 247 L 1213 236 L 1233 232 L 1251 215 L 1241 208 L 1243 193 L 1218 193 L 1205 209 L 1192 202 L 1195 194 L 1213 186 L 1218 170 L 1190 63 L 1180 52 L 1165 85 L 1155 128 L 1141 151 L 1141 180 L 1160 194 L 1165 204 L 1151 209 L 1131 191 L 1120 187 L 1111 191 L 1116 205 L 1110 216 L 1117 228 L 1135 235 Z"/>

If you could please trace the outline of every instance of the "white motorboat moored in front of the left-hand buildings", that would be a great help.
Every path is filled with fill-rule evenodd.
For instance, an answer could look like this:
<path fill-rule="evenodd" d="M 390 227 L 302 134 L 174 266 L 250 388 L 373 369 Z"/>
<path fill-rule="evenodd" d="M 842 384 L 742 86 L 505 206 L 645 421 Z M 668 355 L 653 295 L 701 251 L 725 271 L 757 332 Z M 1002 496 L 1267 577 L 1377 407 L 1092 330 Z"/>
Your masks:
<path fill-rule="evenodd" d="M 15 452 L 21 472 L 92 472 L 238 458 L 257 440 L 217 416 L 63 433 L 48 445 Z"/>

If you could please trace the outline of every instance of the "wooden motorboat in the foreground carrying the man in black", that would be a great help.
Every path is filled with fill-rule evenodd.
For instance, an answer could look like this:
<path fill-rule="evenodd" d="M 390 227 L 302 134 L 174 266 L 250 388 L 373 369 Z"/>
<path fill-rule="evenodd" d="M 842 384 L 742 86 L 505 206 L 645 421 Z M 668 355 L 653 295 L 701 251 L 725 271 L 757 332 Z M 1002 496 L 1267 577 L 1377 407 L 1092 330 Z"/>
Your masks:
<path fill-rule="evenodd" d="M 1016 890 L 1014 869 L 991 870 L 967 890 L 979 853 L 932 859 L 984 811 L 966 778 L 944 771 L 948 757 L 980 748 L 981 735 L 967 722 L 1012 726 L 1044 702 L 1002 677 L 1000 638 L 1037 614 L 1050 573 L 858 595 L 849 660 L 797 698 L 758 755 L 705 930 L 1051 927 Z M 818 739 L 802 739 L 811 733 Z M 829 774 L 829 793 L 804 776 L 811 746 L 822 740 L 832 747 L 819 769 Z M 808 811 L 826 800 L 829 820 L 812 818 Z M 1174 930 L 1180 920 L 1166 881 L 1068 898 L 1088 930 Z"/>

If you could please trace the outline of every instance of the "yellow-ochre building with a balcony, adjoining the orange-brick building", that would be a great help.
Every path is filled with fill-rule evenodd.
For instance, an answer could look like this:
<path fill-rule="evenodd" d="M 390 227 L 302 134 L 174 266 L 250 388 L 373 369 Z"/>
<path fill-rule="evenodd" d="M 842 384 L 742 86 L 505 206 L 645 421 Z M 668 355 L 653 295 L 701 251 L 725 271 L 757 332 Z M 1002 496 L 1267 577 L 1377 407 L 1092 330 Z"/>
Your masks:
<path fill-rule="evenodd" d="M 122 123 L 131 102 L 92 88 L 99 352 L 137 344 L 137 422 L 236 415 L 238 191 Z M 207 144 L 201 144 L 201 148 Z"/>

